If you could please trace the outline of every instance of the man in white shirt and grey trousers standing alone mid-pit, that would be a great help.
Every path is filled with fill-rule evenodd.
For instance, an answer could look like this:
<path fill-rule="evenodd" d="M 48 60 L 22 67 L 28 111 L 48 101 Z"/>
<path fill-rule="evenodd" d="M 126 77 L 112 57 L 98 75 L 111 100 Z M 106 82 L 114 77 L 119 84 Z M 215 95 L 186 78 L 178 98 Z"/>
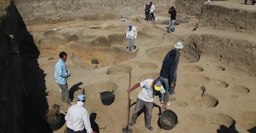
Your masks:
<path fill-rule="evenodd" d="M 128 48 L 127 51 L 131 50 L 133 51 L 133 45 L 134 45 L 134 39 L 137 38 L 137 30 L 132 25 L 129 25 L 126 33 L 126 39 L 128 38 Z"/>

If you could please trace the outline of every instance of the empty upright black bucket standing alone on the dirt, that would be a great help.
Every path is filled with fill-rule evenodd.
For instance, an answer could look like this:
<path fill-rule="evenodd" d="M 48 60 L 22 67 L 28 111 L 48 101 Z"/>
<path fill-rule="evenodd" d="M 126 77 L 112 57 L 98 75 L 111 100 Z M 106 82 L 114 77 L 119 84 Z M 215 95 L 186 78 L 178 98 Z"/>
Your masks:
<path fill-rule="evenodd" d="M 104 91 L 100 92 L 101 95 L 101 102 L 103 105 L 109 106 L 113 103 L 114 101 L 114 90 L 111 91 Z"/>

